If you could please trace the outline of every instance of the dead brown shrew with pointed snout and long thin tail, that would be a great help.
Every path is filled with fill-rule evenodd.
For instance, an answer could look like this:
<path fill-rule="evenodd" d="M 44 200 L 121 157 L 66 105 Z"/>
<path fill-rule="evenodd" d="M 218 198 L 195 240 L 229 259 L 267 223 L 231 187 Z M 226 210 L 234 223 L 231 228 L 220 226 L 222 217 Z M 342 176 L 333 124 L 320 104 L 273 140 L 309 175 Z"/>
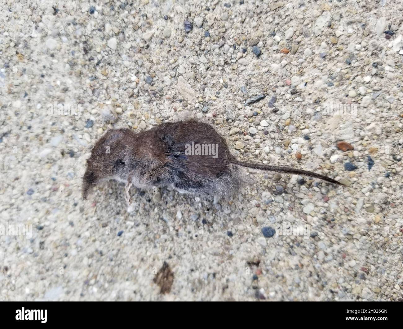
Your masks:
<path fill-rule="evenodd" d="M 218 157 L 185 154 L 186 144 L 217 144 Z M 110 152 L 108 152 L 110 151 Z M 211 125 L 190 119 L 167 122 L 146 132 L 109 130 L 91 151 L 83 177 L 83 197 L 96 184 L 116 179 L 126 183 L 125 196 L 136 187 L 172 186 L 178 191 L 229 197 L 241 183 L 239 166 L 295 173 L 339 184 L 324 175 L 299 169 L 239 162 Z"/>

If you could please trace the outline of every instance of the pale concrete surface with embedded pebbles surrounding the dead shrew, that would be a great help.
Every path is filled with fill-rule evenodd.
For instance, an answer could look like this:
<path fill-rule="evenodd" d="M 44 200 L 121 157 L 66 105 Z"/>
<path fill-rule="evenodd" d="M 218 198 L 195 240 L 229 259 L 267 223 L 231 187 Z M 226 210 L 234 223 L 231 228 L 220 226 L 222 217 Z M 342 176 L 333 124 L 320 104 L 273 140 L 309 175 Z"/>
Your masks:
<path fill-rule="evenodd" d="M 2 0 L 0 300 L 401 299 L 402 9 Z M 238 160 L 347 186 L 246 171 L 229 202 L 133 189 L 128 211 L 116 182 L 81 199 L 107 129 L 185 113 Z"/>

